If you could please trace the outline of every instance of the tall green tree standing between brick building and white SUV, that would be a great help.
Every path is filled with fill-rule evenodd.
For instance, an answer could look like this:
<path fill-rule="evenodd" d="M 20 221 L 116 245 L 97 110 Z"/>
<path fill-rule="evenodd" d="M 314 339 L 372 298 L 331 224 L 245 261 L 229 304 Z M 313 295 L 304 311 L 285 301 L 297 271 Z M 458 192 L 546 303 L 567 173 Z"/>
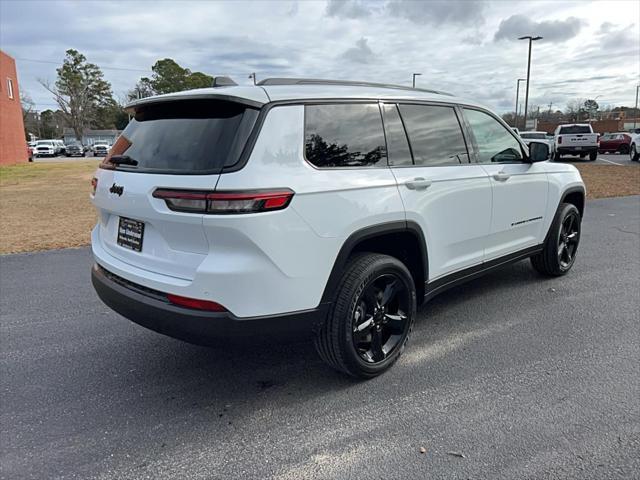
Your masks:
<path fill-rule="evenodd" d="M 54 86 L 40 81 L 49 90 L 62 111 L 65 122 L 80 141 L 84 131 L 95 121 L 101 108 L 113 102 L 111 85 L 100 68 L 87 62 L 77 50 L 69 49 L 57 70 Z"/>

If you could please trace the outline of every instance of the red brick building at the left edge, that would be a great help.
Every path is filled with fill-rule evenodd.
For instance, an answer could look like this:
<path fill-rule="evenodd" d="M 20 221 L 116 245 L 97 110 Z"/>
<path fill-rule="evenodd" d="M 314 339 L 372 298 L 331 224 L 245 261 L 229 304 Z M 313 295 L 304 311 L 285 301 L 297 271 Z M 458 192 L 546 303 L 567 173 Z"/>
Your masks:
<path fill-rule="evenodd" d="M 0 165 L 27 160 L 16 62 L 0 50 Z"/>

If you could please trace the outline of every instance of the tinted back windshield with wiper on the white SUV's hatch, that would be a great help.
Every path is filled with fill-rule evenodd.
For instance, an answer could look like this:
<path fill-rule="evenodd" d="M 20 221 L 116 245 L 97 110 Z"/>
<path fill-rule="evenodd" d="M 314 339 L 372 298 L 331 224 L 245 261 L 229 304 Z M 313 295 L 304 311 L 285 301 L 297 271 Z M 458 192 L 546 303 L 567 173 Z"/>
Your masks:
<path fill-rule="evenodd" d="M 137 162 L 118 166 L 127 171 L 219 173 L 240 160 L 257 117 L 254 108 L 220 100 L 144 106 L 136 111 L 108 158 L 126 155 Z"/>

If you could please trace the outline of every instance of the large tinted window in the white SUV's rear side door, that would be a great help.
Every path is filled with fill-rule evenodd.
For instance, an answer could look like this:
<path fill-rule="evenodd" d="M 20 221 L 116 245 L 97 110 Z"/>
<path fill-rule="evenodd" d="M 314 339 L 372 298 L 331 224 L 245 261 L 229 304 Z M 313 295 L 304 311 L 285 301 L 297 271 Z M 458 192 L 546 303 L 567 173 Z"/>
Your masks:
<path fill-rule="evenodd" d="M 400 105 L 416 165 L 468 163 L 467 146 L 452 107 Z"/>

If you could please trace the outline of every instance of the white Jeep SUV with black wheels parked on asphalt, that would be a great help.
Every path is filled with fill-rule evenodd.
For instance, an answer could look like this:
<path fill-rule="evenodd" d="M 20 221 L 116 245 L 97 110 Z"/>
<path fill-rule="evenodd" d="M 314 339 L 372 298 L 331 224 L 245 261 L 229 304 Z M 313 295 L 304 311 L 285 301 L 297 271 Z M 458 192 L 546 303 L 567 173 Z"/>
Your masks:
<path fill-rule="evenodd" d="M 573 265 L 580 174 L 489 110 L 357 82 L 223 83 L 129 105 L 93 179 L 93 284 L 134 322 L 200 344 L 306 334 L 367 378 L 448 287 L 525 258 Z"/>

